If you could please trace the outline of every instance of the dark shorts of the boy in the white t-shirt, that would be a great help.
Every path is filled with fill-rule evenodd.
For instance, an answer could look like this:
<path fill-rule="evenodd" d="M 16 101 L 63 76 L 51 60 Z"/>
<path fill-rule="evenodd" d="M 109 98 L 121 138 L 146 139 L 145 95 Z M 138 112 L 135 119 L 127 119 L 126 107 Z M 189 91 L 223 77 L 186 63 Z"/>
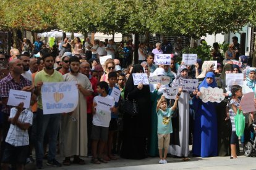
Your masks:
<path fill-rule="evenodd" d="M 92 140 L 102 140 L 103 142 L 108 141 L 108 127 L 92 125 Z"/>

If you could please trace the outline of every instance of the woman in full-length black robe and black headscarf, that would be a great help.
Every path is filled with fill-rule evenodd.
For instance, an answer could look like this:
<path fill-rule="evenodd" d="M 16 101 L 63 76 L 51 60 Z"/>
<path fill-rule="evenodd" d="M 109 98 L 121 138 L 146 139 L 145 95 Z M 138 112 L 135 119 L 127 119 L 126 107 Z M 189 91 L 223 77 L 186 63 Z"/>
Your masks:
<path fill-rule="evenodd" d="M 132 73 L 143 73 L 143 67 L 139 64 L 134 65 Z M 139 114 L 133 117 L 124 115 L 121 157 L 141 160 L 147 157 L 147 140 L 150 134 L 150 88 L 142 84 L 135 86 L 134 79 L 130 75 L 124 97 L 128 97 L 131 101 L 136 100 Z"/>

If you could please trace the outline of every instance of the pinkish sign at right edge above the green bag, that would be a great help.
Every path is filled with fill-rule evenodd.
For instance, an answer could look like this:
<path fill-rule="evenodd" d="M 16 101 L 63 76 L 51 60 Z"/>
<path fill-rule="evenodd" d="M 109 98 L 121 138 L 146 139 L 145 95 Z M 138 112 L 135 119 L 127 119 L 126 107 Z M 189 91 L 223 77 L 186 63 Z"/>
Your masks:
<path fill-rule="evenodd" d="M 242 96 L 240 105 L 242 107 L 243 113 L 250 113 L 252 111 L 256 111 L 256 108 L 254 105 L 254 92 L 249 92 L 247 94 L 244 94 Z"/>

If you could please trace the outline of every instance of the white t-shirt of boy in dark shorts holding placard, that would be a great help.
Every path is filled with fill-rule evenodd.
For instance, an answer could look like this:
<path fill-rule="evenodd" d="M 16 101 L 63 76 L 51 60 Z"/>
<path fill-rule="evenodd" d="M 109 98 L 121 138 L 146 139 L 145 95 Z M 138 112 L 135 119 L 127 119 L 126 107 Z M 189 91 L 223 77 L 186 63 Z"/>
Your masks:
<path fill-rule="evenodd" d="M 96 99 L 99 96 L 94 97 L 93 102 L 96 102 Z M 113 100 L 114 97 L 107 95 L 105 97 L 108 100 Z M 102 127 L 109 127 L 109 122 L 111 120 L 111 111 L 103 111 L 103 110 L 96 110 L 95 115 L 93 115 L 93 124 L 95 126 L 102 126 Z"/>

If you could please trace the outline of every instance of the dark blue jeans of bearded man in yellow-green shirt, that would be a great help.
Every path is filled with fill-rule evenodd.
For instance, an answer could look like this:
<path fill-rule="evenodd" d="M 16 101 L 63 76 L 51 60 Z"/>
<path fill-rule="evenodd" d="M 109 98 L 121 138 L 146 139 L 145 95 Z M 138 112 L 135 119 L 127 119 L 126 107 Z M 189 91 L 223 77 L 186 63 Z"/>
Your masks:
<path fill-rule="evenodd" d="M 49 126 L 49 153 L 48 160 L 51 161 L 55 159 L 56 156 L 56 145 L 57 137 L 59 132 L 59 124 L 61 121 L 61 114 L 51 114 L 43 115 L 43 110 L 37 109 L 35 113 L 35 124 L 36 124 L 36 160 L 43 160 L 43 137 L 45 136 L 45 131 Z M 33 122 L 34 123 L 34 122 Z"/>

